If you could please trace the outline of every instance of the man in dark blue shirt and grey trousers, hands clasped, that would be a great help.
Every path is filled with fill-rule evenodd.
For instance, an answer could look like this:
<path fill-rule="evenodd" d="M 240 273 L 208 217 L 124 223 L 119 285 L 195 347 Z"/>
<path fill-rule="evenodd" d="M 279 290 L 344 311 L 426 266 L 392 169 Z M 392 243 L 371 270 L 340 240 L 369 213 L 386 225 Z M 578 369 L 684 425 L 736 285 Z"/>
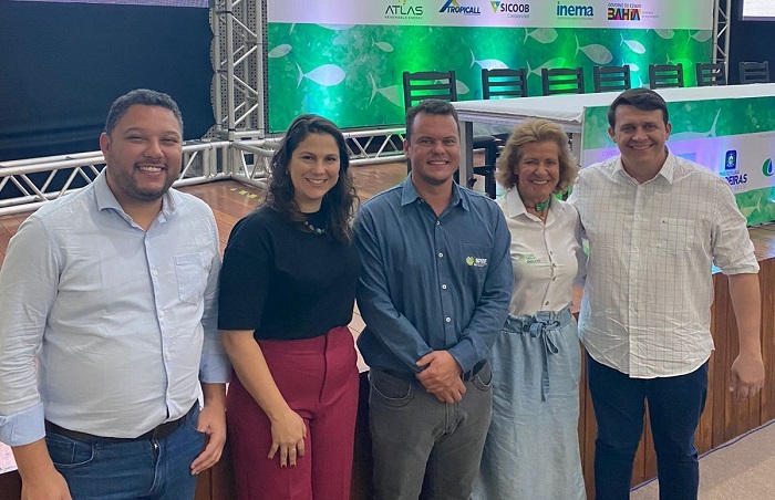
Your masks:
<path fill-rule="evenodd" d="M 512 298 L 510 236 L 497 205 L 458 187 L 455 108 L 406 114 L 406 180 L 363 205 L 358 340 L 370 366 L 379 499 L 467 499 L 492 409 L 489 350 Z"/>

